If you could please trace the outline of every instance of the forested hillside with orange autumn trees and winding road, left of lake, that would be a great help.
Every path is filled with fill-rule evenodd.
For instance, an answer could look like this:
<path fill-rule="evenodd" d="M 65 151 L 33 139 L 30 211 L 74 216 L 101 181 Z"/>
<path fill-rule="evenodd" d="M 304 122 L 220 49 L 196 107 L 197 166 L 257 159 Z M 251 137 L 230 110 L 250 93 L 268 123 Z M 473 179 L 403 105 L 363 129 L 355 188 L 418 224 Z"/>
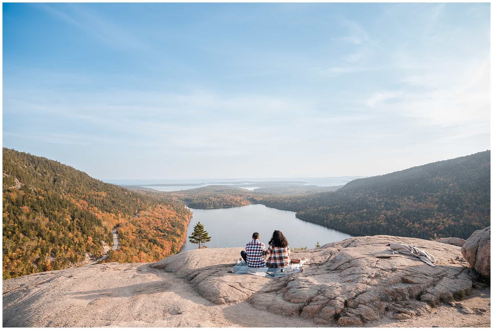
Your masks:
<path fill-rule="evenodd" d="M 2 188 L 4 279 L 77 265 L 86 254 L 98 258 L 117 224 L 121 249 L 114 258 L 164 258 L 181 247 L 191 215 L 176 199 L 129 191 L 6 148 Z"/>

